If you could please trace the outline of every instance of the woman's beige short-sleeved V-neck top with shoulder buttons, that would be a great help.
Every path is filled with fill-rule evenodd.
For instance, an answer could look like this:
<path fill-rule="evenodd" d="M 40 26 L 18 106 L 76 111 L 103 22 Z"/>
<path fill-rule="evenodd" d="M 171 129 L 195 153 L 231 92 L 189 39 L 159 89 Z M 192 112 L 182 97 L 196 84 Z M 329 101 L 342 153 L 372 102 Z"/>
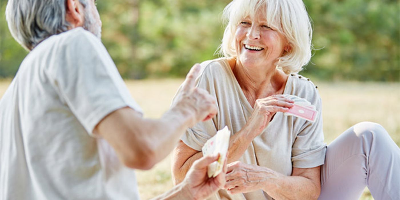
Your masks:
<path fill-rule="evenodd" d="M 228 126 L 232 134 L 238 132 L 253 110 L 226 58 L 206 61 L 201 65 L 202 73 L 197 79 L 197 86 L 215 96 L 218 114 L 212 120 L 196 124 L 182 136 L 186 145 L 198 151 L 224 126 Z M 321 99 L 314 84 L 300 75 L 290 75 L 283 94 L 305 98 L 315 105 L 319 111 L 316 122 L 278 112 L 239 160 L 290 176 L 292 167 L 312 168 L 324 164 L 326 144 L 322 132 Z M 225 190 L 220 190 L 212 199 L 245 198 L 272 199 L 262 190 L 236 195 L 228 195 Z"/>

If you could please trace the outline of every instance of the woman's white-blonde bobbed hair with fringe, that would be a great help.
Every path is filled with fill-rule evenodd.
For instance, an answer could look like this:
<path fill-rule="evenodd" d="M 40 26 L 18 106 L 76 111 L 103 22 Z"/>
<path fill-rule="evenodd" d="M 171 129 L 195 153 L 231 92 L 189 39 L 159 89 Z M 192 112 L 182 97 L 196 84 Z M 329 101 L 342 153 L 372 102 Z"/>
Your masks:
<path fill-rule="evenodd" d="M 291 50 L 284 53 L 277 63 L 286 74 L 297 73 L 310 62 L 312 27 L 302 0 L 233 0 L 225 7 L 223 18 L 227 22 L 220 53 L 237 57 L 234 40 L 236 28 L 244 18 L 254 18 L 263 12 L 268 26 L 283 34 Z"/>

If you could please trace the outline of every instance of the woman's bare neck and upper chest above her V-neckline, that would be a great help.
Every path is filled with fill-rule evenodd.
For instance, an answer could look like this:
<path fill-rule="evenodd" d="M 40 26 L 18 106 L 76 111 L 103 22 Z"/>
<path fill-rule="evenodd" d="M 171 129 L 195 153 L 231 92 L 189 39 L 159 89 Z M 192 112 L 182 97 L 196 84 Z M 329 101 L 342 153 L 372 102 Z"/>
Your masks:
<path fill-rule="evenodd" d="M 250 105 L 253 106 L 259 98 L 283 94 L 288 75 L 274 66 L 247 68 L 237 60 L 229 63 Z"/>

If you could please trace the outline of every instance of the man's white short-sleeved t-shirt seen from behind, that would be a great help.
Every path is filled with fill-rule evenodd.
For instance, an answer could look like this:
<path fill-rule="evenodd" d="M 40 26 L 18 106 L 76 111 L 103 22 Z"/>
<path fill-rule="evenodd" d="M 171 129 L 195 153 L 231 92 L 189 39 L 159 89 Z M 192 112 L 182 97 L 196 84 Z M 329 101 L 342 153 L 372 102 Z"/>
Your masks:
<path fill-rule="evenodd" d="M 0 200 L 138 199 L 134 170 L 92 134 L 125 106 L 141 112 L 93 34 L 38 44 L 0 101 Z"/>

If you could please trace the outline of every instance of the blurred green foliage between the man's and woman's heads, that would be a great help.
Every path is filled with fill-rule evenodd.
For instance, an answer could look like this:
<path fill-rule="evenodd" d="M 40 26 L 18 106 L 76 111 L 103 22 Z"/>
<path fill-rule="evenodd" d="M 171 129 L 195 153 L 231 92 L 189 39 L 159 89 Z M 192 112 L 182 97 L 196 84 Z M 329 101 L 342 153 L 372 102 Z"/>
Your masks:
<path fill-rule="evenodd" d="M 217 58 L 228 2 L 99 1 L 103 42 L 124 78 L 183 76 L 194 63 Z"/>

